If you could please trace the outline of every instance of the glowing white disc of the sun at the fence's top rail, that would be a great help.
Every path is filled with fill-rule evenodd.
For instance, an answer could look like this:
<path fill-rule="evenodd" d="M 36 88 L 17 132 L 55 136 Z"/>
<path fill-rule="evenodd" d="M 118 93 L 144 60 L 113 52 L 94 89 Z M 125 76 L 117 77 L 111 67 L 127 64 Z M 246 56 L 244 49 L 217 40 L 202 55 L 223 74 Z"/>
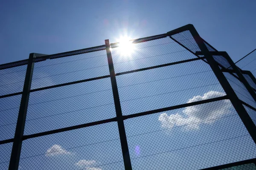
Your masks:
<path fill-rule="evenodd" d="M 130 37 L 120 37 L 118 40 L 119 46 L 118 51 L 123 57 L 131 57 L 131 54 L 134 52 L 134 44 L 132 44 Z"/>

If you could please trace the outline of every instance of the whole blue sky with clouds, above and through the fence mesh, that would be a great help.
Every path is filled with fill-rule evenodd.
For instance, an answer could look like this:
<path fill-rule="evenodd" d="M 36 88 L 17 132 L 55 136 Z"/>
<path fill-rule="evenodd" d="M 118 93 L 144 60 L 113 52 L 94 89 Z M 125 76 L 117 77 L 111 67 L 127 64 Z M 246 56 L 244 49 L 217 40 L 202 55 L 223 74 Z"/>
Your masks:
<path fill-rule="evenodd" d="M 162 34 L 187 23 L 235 61 L 255 48 L 249 3 L 10 1 L 1 8 L 1 63 L 26 59 L 30 52 L 54 54 L 102 45 L 105 39 L 115 42 L 123 34 Z M 112 56 L 116 73 L 195 58 L 169 37 L 136 44 L 128 56 L 113 48 Z M 21 91 L 25 72 L 26 66 L 1 70 L 0 95 Z M 35 63 L 31 88 L 108 74 L 106 51 L 51 59 Z M 116 81 L 123 115 L 225 95 L 201 60 L 119 75 Z M 239 97 L 245 99 L 242 88 Z M 255 104 L 250 96 L 245 100 Z M 20 95 L 0 99 L 0 114 L 6 115 L 0 119 L 0 140 L 14 136 L 19 104 Z M 51 88 L 30 94 L 24 134 L 115 116 L 110 78 Z M 134 170 L 199 169 L 256 156 L 256 146 L 228 100 L 124 122 Z M 0 170 L 8 167 L 11 147 L 0 145 Z M 20 170 L 124 169 L 116 122 L 27 139 L 20 158 Z"/>

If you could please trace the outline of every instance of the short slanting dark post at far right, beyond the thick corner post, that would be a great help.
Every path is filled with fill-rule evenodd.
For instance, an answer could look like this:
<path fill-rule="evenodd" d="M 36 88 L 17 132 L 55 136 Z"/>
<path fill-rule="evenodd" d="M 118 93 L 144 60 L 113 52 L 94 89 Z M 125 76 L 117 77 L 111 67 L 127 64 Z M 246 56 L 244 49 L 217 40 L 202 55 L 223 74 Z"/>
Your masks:
<path fill-rule="evenodd" d="M 250 86 L 250 84 L 247 82 L 247 80 L 244 78 L 244 75 L 241 73 L 239 68 L 235 65 L 233 60 L 230 58 L 230 56 L 227 54 L 227 52 L 223 52 L 224 57 L 227 59 L 227 61 L 230 63 L 231 67 L 239 77 L 240 81 L 244 84 L 247 91 L 250 93 L 250 95 L 253 97 L 254 101 L 256 102 L 256 93 L 254 92 L 253 88 Z"/>

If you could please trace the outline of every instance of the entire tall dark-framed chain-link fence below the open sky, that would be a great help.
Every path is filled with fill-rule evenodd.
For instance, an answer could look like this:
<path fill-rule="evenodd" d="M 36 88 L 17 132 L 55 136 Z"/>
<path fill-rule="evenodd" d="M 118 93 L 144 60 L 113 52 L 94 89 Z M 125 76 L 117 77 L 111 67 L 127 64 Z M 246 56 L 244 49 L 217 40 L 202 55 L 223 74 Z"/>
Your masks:
<path fill-rule="evenodd" d="M 0 170 L 256 169 L 254 77 L 192 25 L 0 77 Z"/>

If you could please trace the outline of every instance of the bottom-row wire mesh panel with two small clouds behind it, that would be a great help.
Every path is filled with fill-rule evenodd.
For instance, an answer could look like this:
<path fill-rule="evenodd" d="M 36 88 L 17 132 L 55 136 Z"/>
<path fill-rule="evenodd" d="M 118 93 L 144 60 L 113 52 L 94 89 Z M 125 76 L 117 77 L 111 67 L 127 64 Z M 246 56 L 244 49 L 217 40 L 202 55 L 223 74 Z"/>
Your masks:
<path fill-rule="evenodd" d="M 20 167 L 27 170 L 123 170 L 116 122 L 23 141 Z"/>

